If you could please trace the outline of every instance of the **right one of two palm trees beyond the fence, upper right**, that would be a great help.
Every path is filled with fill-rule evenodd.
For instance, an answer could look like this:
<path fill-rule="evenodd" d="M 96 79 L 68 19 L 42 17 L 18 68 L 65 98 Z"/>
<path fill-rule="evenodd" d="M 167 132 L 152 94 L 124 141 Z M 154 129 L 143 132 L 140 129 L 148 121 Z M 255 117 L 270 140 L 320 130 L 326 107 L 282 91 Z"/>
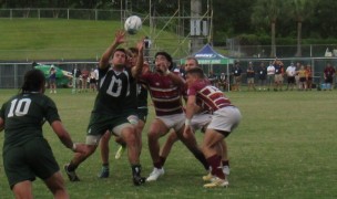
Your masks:
<path fill-rule="evenodd" d="M 318 0 L 288 0 L 289 15 L 297 22 L 297 52 L 295 56 L 302 56 L 302 24 L 314 14 Z"/>

